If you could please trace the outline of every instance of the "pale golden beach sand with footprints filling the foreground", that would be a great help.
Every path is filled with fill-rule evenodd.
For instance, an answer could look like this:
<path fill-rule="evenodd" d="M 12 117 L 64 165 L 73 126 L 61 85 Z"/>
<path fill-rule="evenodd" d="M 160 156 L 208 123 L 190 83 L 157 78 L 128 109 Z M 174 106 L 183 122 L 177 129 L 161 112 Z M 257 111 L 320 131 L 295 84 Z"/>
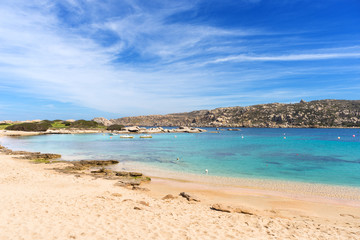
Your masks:
<path fill-rule="evenodd" d="M 154 178 L 150 191 L 0 155 L 0 239 L 359 239 L 360 208 Z M 180 192 L 195 194 L 189 202 Z M 167 194 L 175 199 L 162 200 Z M 214 203 L 250 214 L 211 210 Z M 355 202 L 356 203 L 356 202 Z"/>

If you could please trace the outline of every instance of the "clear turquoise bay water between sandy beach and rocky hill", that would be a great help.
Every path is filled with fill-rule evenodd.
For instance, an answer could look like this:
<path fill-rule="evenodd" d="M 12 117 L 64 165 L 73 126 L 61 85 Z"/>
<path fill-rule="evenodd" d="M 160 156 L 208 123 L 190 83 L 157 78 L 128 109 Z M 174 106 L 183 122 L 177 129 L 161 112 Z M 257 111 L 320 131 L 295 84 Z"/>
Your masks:
<path fill-rule="evenodd" d="M 0 144 L 60 153 L 65 160 L 117 159 L 195 174 L 208 169 L 215 176 L 360 187 L 359 129 L 246 128 L 218 134 L 154 134 L 152 139 L 134 136 L 43 135 L 0 138 Z"/>

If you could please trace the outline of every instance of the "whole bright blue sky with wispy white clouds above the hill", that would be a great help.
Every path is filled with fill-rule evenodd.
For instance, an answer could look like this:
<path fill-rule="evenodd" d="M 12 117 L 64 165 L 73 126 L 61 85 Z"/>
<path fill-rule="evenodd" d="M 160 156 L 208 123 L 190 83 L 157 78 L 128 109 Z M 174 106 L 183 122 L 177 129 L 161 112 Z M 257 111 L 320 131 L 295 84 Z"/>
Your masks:
<path fill-rule="evenodd" d="M 359 0 L 0 1 L 1 120 L 359 92 Z"/>

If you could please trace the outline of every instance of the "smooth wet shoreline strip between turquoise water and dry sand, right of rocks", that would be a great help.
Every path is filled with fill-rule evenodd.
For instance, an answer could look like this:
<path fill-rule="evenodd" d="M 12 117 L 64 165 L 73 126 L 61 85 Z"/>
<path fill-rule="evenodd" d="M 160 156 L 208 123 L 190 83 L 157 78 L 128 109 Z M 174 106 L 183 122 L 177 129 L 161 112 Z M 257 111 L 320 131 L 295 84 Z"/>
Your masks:
<path fill-rule="evenodd" d="M 307 183 L 261 178 L 235 178 L 200 175 L 156 169 L 140 163 L 120 162 L 110 166 L 113 170 L 141 171 L 152 179 L 176 182 L 176 185 L 197 185 L 209 191 L 239 192 L 279 196 L 304 201 L 331 202 L 360 207 L 360 187 Z"/>

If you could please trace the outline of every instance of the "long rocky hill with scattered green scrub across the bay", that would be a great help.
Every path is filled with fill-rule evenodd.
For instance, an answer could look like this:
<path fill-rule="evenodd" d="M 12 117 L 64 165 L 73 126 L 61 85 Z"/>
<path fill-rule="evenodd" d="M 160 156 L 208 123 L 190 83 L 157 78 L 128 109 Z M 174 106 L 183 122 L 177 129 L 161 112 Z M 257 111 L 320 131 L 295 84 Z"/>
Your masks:
<path fill-rule="evenodd" d="M 294 104 L 271 103 L 248 107 L 225 107 L 188 113 L 124 117 L 106 125 L 191 127 L 360 127 L 360 100 L 317 100 Z"/>

